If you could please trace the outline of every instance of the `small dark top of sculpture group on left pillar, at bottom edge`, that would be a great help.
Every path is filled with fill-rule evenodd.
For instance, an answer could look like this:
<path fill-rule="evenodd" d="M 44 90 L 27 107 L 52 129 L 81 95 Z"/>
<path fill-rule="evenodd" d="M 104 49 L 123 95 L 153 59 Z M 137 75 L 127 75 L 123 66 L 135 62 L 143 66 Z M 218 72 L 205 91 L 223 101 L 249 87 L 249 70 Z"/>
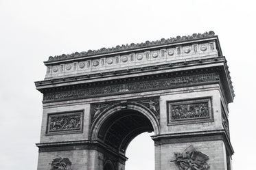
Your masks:
<path fill-rule="evenodd" d="M 51 170 L 72 170 L 72 162 L 69 158 L 55 158 L 49 165 Z"/>

